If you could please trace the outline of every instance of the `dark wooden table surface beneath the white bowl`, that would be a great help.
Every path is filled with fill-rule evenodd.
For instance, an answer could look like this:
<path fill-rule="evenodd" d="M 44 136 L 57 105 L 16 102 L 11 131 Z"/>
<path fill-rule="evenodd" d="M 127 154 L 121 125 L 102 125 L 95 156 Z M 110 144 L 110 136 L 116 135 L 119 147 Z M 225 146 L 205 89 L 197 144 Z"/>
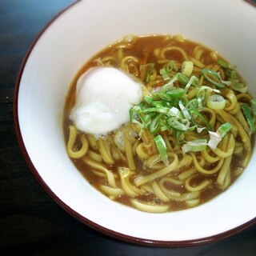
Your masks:
<path fill-rule="evenodd" d="M 78 222 L 38 184 L 14 131 L 14 83 L 35 36 L 71 2 L 0 0 L 0 254 L 256 255 L 256 226 L 193 247 L 155 248 L 122 242 Z"/>

